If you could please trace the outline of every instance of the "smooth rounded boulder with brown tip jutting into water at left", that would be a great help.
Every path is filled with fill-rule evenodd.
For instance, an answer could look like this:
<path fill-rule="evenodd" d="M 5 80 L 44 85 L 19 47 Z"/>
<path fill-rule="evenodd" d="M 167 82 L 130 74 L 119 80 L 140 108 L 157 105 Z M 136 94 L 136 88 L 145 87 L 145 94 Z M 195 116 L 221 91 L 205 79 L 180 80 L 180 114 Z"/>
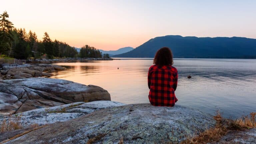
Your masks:
<path fill-rule="evenodd" d="M 101 87 L 83 85 L 72 81 L 52 78 L 28 78 L 5 80 L 9 84 L 44 91 L 73 102 L 111 100 L 110 94 Z"/>

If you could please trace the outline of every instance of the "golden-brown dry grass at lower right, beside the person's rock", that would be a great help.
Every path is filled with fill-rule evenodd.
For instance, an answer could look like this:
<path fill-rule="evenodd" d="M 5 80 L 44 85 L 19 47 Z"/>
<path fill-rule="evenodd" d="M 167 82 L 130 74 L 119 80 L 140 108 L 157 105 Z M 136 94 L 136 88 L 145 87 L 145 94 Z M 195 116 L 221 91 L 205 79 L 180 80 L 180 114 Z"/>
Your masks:
<path fill-rule="evenodd" d="M 187 137 L 186 140 L 182 141 L 181 144 L 206 144 L 210 142 L 217 142 L 226 135 L 229 130 L 244 130 L 244 128 L 255 128 L 255 115 L 256 113 L 251 113 L 251 117 L 248 116 L 229 120 L 224 119 L 220 111 L 216 112 L 213 117 L 216 121 L 216 125 L 213 128 L 209 128 L 204 132 L 199 133 L 198 136 Z"/>

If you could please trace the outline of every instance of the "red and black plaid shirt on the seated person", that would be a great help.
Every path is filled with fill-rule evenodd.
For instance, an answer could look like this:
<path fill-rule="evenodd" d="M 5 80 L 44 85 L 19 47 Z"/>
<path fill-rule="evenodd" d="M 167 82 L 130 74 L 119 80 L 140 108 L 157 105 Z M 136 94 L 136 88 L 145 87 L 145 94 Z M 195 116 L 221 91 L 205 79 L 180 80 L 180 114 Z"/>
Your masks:
<path fill-rule="evenodd" d="M 148 70 L 149 101 L 154 106 L 174 106 L 178 71 L 171 65 L 152 65 Z"/>

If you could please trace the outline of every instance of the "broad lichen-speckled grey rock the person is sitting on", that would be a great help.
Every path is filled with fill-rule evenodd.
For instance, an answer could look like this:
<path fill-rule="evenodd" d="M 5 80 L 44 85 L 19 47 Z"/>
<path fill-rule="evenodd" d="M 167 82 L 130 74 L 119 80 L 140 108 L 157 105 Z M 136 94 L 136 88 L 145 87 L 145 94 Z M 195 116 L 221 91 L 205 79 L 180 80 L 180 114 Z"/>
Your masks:
<path fill-rule="evenodd" d="M 94 111 L 14 138 L 6 144 L 57 143 L 178 143 L 185 135 L 204 131 L 215 121 L 198 110 L 175 105 L 132 104 Z"/>

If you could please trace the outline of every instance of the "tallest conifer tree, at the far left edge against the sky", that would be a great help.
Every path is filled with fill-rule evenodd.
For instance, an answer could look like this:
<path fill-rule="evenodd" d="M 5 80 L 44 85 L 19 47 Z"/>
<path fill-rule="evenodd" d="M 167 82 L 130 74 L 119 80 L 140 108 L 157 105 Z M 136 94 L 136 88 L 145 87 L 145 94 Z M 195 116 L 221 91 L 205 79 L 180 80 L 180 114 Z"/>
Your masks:
<path fill-rule="evenodd" d="M 0 55 L 2 52 L 11 50 L 13 41 L 13 35 L 11 33 L 13 24 L 6 18 L 9 18 L 9 15 L 5 11 L 0 15 Z"/>

